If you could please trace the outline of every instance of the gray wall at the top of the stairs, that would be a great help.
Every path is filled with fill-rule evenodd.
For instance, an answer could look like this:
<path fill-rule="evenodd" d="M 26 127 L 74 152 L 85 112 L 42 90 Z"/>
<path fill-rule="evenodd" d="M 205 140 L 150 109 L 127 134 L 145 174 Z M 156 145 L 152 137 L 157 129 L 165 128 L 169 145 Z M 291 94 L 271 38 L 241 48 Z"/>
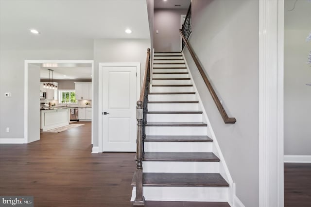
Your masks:
<path fill-rule="evenodd" d="M 155 52 L 180 51 L 180 15 L 187 9 L 155 9 L 154 11 L 154 48 Z M 159 33 L 156 34 L 155 31 Z"/>

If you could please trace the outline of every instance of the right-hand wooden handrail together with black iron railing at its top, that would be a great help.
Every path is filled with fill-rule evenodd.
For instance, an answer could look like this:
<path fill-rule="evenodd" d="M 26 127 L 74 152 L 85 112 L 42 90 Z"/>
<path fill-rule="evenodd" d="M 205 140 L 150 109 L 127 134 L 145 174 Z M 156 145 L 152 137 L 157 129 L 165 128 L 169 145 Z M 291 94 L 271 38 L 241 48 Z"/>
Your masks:
<path fill-rule="evenodd" d="M 190 25 L 188 25 L 190 24 Z M 188 12 L 187 12 L 187 16 L 185 18 L 185 21 L 183 23 L 183 26 L 182 26 L 182 29 L 179 30 L 179 33 L 183 39 L 183 48 L 184 48 L 184 45 L 187 46 L 190 54 L 191 54 L 191 57 L 196 65 L 196 67 L 199 69 L 199 72 L 201 73 L 201 76 L 207 86 L 207 89 L 209 90 L 209 93 L 210 95 L 212 96 L 217 108 L 218 108 L 218 111 L 220 113 L 220 115 L 222 116 L 223 120 L 225 121 L 225 123 L 235 123 L 237 120 L 234 118 L 234 117 L 228 117 L 227 113 L 225 112 L 225 109 L 223 107 L 223 104 L 221 104 L 217 94 L 215 93 L 215 90 L 214 88 L 212 87 L 212 85 L 210 84 L 208 78 L 207 78 L 207 75 L 205 74 L 204 72 L 204 69 L 202 68 L 197 56 L 195 55 L 195 53 L 193 52 L 193 49 L 191 47 L 191 45 L 189 44 L 188 42 L 188 38 L 191 34 L 191 3 L 190 3 L 190 6 L 189 6 L 189 9 L 188 9 Z"/>

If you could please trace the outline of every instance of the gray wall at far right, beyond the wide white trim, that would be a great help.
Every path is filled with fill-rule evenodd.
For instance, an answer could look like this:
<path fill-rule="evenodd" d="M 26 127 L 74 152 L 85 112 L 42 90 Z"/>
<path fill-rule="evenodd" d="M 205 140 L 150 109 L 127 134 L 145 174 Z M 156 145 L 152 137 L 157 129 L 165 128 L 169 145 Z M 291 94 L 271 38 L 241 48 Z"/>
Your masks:
<path fill-rule="evenodd" d="M 311 84 L 310 32 L 284 31 L 284 155 L 311 155 L 311 86 L 306 85 Z"/>

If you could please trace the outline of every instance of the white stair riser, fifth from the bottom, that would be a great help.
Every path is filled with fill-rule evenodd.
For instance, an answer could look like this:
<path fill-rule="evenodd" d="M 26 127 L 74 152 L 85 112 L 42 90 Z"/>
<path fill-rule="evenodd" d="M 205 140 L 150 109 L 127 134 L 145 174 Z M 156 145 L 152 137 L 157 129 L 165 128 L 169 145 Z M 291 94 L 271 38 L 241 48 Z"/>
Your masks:
<path fill-rule="evenodd" d="M 202 122 L 202 114 L 147 114 L 151 122 Z"/>

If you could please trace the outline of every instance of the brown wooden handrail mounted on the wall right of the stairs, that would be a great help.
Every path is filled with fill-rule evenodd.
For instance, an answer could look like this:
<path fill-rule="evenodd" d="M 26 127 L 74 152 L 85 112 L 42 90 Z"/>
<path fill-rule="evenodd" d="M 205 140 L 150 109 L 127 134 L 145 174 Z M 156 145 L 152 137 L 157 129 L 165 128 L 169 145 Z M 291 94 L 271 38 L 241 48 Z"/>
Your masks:
<path fill-rule="evenodd" d="M 237 120 L 234 118 L 234 117 L 228 117 L 227 113 L 225 112 L 225 109 L 223 107 L 223 105 L 220 103 L 219 101 L 219 98 L 217 96 L 217 94 L 215 93 L 214 91 L 214 88 L 212 87 L 212 85 L 210 84 L 203 68 L 201 67 L 201 64 L 199 63 L 199 60 L 197 59 L 195 53 L 193 52 L 192 50 L 192 47 L 190 46 L 189 42 L 186 40 L 185 36 L 183 35 L 182 33 L 182 30 L 179 30 L 179 33 L 181 35 L 181 37 L 183 38 L 184 42 L 185 42 L 185 45 L 187 46 L 190 54 L 191 54 L 191 57 L 193 58 L 193 61 L 196 65 L 196 67 L 199 69 L 199 72 L 201 73 L 201 76 L 209 90 L 209 93 L 210 95 L 212 96 L 217 108 L 218 108 L 218 111 L 220 113 L 220 115 L 222 116 L 223 120 L 225 121 L 225 123 L 235 123 Z"/>

